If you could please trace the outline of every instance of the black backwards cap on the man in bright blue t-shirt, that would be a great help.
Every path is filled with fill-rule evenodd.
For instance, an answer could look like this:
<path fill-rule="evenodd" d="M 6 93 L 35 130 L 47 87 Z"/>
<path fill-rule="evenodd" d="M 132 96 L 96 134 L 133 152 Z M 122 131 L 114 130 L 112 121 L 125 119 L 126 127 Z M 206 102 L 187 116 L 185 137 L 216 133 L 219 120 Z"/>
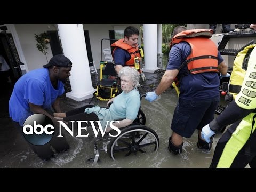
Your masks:
<path fill-rule="evenodd" d="M 72 62 L 65 57 L 64 55 L 55 55 L 53 56 L 49 63 L 46 65 L 43 65 L 44 68 L 48 68 L 51 66 L 56 66 L 56 67 L 72 67 Z"/>

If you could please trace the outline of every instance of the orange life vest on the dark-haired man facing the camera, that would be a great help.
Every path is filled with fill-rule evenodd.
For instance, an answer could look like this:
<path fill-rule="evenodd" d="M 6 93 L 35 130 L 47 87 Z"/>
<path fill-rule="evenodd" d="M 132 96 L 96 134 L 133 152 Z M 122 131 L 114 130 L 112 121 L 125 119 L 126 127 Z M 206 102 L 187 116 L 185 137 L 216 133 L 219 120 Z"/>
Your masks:
<path fill-rule="evenodd" d="M 117 47 L 126 50 L 131 55 L 131 59 L 125 62 L 126 66 L 134 67 L 134 58 L 135 57 L 141 58 L 138 46 L 134 48 L 134 47 L 128 45 L 127 43 L 124 43 L 124 39 L 119 39 L 115 43 L 111 44 L 111 46 L 115 47 L 115 49 L 113 50 L 113 57 L 114 57 L 114 52 L 117 49 Z"/>

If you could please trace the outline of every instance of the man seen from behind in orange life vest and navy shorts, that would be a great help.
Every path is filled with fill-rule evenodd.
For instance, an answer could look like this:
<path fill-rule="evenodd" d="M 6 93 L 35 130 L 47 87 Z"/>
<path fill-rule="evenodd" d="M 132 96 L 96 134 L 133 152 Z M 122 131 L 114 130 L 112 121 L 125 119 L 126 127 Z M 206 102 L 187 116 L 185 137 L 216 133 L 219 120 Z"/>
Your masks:
<path fill-rule="evenodd" d="M 184 31 L 183 33 L 190 32 L 186 30 L 186 27 L 178 26 L 174 28 L 172 37 L 179 36 L 182 31 Z M 206 30 L 206 33 L 210 33 L 210 31 Z M 177 38 L 176 41 L 179 39 Z M 190 44 L 194 47 L 193 50 Z M 207 58 L 205 58 L 206 56 Z M 197 60 L 197 62 L 193 62 L 193 65 L 201 63 L 201 66 L 188 70 L 188 64 L 185 61 L 188 61 L 187 59 L 190 57 L 192 61 Z M 186 65 L 179 68 L 183 63 Z M 207 66 L 209 63 L 212 63 L 212 66 Z M 202 70 L 204 68 L 207 68 L 207 71 Z M 148 92 L 145 99 L 149 102 L 154 101 L 172 85 L 175 77 L 179 79 L 179 102 L 173 115 L 171 124 L 173 132 L 168 146 L 168 149 L 174 154 L 181 153 L 183 137 L 190 138 L 195 129 L 198 129 L 198 148 L 211 149 L 212 142 L 207 143 L 201 138 L 201 130 L 213 120 L 215 109 L 220 101 L 220 79 L 217 71 L 219 70 L 221 73 L 221 78 L 229 77 L 227 69 L 228 66 L 217 47 L 209 38 L 184 38 L 183 41 L 171 47 L 165 74 L 156 90 Z M 195 73 L 194 70 L 203 72 Z"/>

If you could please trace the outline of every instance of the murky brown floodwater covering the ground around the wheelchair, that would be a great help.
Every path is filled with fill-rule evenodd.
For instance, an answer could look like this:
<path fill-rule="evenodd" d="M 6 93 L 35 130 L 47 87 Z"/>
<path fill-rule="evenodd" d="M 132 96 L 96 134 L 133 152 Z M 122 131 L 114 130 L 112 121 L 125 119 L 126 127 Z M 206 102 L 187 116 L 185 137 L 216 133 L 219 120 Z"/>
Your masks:
<path fill-rule="evenodd" d="M 158 84 L 159 74 L 146 73 L 147 84 L 141 88 L 142 93 L 154 90 Z M 158 81 L 158 82 L 157 82 Z M 76 102 L 72 99 L 62 97 L 61 108 L 65 111 L 81 107 L 89 103 L 90 99 Z M 89 137 L 71 137 L 66 134 L 70 149 L 49 161 L 42 161 L 28 147 L 25 140 L 18 134 L 18 131 L 10 125 L 10 119 L 5 116 L 1 119 L 2 136 L 0 137 L 0 167 L 85 167 L 85 168 L 186 168 L 186 167 L 209 167 L 213 156 L 215 145 L 220 137 L 220 133 L 214 137 L 213 148 L 211 151 L 205 151 L 197 148 L 197 131 L 191 138 L 185 138 L 183 151 L 180 155 L 173 155 L 167 149 L 169 137 L 171 135 L 170 125 L 172 122 L 173 111 L 178 102 L 178 97 L 174 90 L 168 89 L 161 95 L 161 99 L 149 103 L 142 98 L 141 109 L 146 115 L 146 126 L 153 129 L 159 137 L 158 151 L 138 152 L 136 155 L 131 154 L 127 157 L 119 157 L 115 161 L 110 158 L 108 153 L 100 151 L 99 161 L 93 163 L 88 159 L 94 157 L 94 134 L 92 130 Z M 106 106 L 106 101 L 93 99 L 92 104 Z M 90 129 L 90 127 L 88 128 Z M 74 134 L 76 135 L 76 134 Z"/>

